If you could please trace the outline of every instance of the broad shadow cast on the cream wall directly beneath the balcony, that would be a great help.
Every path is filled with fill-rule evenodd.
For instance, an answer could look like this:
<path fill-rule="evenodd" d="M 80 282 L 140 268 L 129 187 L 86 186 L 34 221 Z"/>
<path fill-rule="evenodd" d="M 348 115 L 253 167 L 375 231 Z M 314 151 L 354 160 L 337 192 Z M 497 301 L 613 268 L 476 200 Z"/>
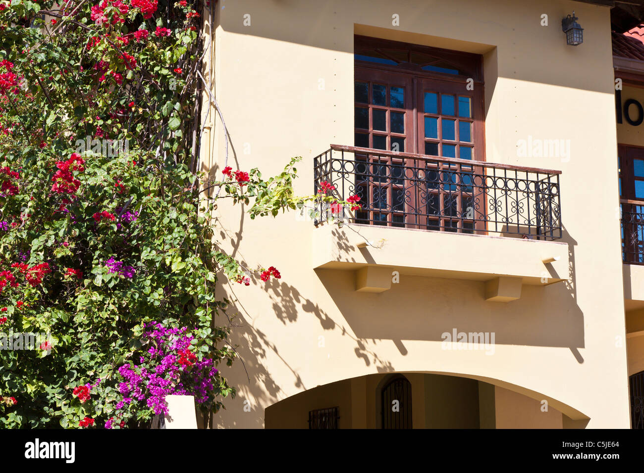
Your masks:
<path fill-rule="evenodd" d="M 346 236 L 340 232 L 335 235 L 346 252 L 350 246 L 342 239 Z M 357 340 L 393 340 L 406 355 L 402 340 L 442 341 L 442 334 L 451 334 L 453 329 L 489 332 L 495 333 L 496 344 L 569 348 L 582 363 L 578 348 L 584 346 L 584 331 L 583 313 L 576 302 L 576 241 L 565 228 L 563 236 L 562 241 L 569 244 L 569 274 L 557 275 L 552 269 L 550 272 L 552 277 L 567 281 L 545 287 L 524 285 L 521 299 L 512 302 L 486 302 L 484 283 L 480 281 L 401 274 L 399 283 L 392 283 L 390 290 L 363 293 L 355 292 L 352 271 L 315 271 Z M 363 248 L 365 252 L 368 250 Z M 369 261 L 370 256 L 365 257 Z M 292 291 L 296 292 L 294 288 Z M 283 291 L 283 296 L 288 292 Z M 459 304 L 455 306 L 453 301 Z M 295 316 L 288 297 L 275 303 L 274 310 L 283 319 Z M 328 321 L 321 319 L 321 324 L 328 328 Z"/>

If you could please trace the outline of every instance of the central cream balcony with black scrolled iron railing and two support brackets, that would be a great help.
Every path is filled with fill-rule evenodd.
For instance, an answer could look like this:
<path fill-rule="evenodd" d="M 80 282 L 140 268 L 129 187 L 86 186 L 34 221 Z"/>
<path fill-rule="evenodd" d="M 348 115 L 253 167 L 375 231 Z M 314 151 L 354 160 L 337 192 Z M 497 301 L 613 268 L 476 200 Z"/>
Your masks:
<path fill-rule="evenodd" d="M 487 301 L 520 297 L 524 284 L 568 278 L 560 171 L 331 145 L 314 158 L 315 192 L 359 196 L 324 225 L 317 209 L 314 268 L 355 272 L 355 290 L 384 292 L 392 272 L 481 281 Z"/>

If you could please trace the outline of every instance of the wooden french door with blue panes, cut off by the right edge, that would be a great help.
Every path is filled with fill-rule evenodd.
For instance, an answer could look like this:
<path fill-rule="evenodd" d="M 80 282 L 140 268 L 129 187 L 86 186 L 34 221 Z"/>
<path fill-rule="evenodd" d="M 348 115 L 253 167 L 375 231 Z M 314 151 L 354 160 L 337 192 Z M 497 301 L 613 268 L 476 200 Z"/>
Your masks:
<path fill-rule="evenodd" d="M 618 146 L 621 251 L 625 263 L 644 263 L 644 148 Z"/>

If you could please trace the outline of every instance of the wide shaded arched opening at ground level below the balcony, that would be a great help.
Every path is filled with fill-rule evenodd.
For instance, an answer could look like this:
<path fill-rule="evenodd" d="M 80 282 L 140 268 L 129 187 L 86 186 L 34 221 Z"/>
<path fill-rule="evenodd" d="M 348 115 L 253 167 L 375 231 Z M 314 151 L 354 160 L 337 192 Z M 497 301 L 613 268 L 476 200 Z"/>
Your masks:
<path fill-rule="evenodd" d="M 572 429 L 587 423 L 544 394 L 509 387 L 453 373 L 374 373 L 294 394 L 266 407 L 264 421 L 267 429 Z"/>

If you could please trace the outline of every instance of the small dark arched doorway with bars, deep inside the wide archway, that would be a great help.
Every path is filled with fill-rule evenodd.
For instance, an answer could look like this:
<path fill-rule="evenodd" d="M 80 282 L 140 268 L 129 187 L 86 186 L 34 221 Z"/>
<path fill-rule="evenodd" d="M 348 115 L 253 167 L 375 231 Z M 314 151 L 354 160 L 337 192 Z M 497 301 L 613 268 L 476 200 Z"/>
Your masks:
<path fill-rule="evenodd" d="M 381 428 L 412 429 L 412 384 L 403 375 L 393 375 L 380 391 Z"/>

